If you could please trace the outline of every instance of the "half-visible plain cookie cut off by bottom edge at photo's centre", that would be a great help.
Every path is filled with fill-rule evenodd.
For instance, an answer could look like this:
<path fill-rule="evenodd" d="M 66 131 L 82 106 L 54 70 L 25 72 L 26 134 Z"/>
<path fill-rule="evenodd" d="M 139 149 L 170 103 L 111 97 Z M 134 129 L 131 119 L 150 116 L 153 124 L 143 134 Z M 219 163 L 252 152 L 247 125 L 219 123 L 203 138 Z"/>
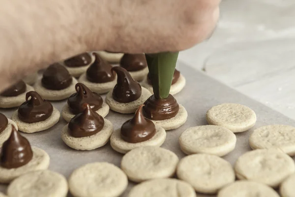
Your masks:
<path fill-rule="evenodd" d="M 128 197 L 196 197 L 192 186 L 171 178 L 153 179 L 134 186 Z"/>

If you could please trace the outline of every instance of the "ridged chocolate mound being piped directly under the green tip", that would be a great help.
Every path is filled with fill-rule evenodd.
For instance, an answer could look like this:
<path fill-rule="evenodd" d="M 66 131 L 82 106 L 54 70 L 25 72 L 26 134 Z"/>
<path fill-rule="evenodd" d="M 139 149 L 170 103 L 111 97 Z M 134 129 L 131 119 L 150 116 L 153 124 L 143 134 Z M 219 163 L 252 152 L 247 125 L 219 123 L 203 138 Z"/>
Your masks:
<path fill-rule="evenodd" d="M 145 101 L 143 114 L 150 120 L 166 120 L 173 118 L 179 111 L 177 100 L 169 94 L 166 99 L 156 99 L 154 95 Z"/>

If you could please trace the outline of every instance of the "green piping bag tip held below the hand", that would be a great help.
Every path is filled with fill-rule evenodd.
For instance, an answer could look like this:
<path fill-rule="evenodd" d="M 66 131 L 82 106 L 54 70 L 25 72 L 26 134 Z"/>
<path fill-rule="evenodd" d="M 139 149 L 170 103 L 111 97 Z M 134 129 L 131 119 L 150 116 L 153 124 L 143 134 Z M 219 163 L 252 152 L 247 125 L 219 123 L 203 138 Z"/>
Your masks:
<path fill-rule="evenodd" d="M 149 76 L 157 99 L 169 96 L 178 52 L 146 54 Z"/>

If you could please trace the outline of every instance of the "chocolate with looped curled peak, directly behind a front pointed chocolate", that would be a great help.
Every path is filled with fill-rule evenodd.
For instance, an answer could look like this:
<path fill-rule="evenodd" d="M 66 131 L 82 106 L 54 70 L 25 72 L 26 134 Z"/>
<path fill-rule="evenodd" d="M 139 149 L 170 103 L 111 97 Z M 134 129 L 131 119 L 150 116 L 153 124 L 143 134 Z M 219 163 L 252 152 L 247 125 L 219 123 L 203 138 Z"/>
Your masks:
<path fill-rule="evenodd" d="M 98 94 L 91 92 L 83 83 L 77 83 L 75 88 L 77 93 L 72 94 L 68 99 L 68 106 L 73 114 L 82 113 L 85 102 L 90 105 L 93 111 L 101 108 L 103 100 Z"/>

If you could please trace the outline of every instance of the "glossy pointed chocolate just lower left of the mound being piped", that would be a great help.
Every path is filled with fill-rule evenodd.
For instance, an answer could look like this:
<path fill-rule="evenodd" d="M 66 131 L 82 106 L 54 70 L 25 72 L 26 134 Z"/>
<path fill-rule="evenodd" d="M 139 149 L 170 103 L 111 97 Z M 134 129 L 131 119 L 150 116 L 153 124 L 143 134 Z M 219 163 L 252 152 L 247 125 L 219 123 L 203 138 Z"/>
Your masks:
<path fill-rule="evenodd" d="M 147 141 L 156 133 L 153 122 L 142 114 L 144 105 L 140 105 L 131 120 L 127 120 L 121 127 L 121 137 L 124 141 L 138 143 Z"/>

